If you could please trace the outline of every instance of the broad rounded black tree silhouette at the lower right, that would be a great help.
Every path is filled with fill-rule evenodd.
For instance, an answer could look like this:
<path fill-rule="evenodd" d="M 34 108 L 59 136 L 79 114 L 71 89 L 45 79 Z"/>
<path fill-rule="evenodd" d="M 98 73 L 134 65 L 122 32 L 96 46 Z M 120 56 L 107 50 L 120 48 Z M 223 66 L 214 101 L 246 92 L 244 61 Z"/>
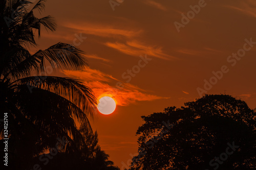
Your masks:
<path fill-rule="evenodd" d="M 255 169 L 255 111 L 230 95 L 142 116 L 131 169 Z"/>

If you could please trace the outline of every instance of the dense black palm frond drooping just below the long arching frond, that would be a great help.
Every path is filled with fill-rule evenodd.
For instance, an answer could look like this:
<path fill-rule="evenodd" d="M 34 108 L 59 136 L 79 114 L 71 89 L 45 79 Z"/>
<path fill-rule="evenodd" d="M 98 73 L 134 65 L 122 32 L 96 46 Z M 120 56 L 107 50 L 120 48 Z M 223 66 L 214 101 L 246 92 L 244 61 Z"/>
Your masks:
<path fill-rule="evenodd" d="M 84 128 L 92 132 L 89 119 L 80 108 L 48 90 L 36 88 L 30 93 L 27 85 L 17 85 L 12 101 L 26 121 L 45 135 L 41 136 L 44 140 L 69 136 L 79 148 L 83 143 L 83 136 L 76 128 L 76 123 L 83 123 Z M 50 141 L 46 142 L 50 144 Z"/>

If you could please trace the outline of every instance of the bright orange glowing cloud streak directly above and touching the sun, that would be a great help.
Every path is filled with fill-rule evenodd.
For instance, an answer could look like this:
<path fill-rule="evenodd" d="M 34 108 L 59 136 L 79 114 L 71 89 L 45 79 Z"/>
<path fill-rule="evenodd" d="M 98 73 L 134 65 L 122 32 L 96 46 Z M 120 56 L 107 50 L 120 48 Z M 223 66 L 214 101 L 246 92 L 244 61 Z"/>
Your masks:
<path fill-rule="evenodd" d="M 117 105 L 120 106 L 127 106 L 138 101 L 168 99 L 148 94 L 146 90 L 130 83 L 122 83 L 123 88 L 117 88 L 115 84 L 116 82 L 121 82 L 120 80 L 96 69 L 63 70 L 63 73 L 69 77 L 83 80 L 93 90 L 97 99 L 101 96 L 111 96 L 117 101 Z"/>

